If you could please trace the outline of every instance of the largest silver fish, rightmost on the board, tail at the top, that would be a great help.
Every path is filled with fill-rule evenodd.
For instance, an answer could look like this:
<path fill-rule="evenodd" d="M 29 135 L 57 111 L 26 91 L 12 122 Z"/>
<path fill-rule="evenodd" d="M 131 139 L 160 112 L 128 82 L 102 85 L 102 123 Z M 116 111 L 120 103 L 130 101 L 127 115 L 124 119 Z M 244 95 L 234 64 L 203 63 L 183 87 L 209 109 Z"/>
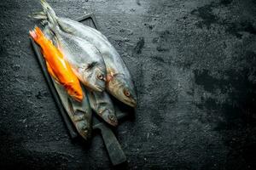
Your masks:
<path fill-rule="evenodd" d="M 108 92 L 126 105 L 135 107 L 137 105 L 137 95 L 131 81 L 130 72 L 107 37 L 96 29 L 84 26 L 75 20 L 57 17 L 53 8 L 45 0 L 41 0 L 41 4 L 44 12 L 35 15 L 34 18 L 48 20 L 49 23 L 57 23 L 62 31 L 82 37 L 94 44 L 102 54 L 107 67 L 106 88 Z"/>

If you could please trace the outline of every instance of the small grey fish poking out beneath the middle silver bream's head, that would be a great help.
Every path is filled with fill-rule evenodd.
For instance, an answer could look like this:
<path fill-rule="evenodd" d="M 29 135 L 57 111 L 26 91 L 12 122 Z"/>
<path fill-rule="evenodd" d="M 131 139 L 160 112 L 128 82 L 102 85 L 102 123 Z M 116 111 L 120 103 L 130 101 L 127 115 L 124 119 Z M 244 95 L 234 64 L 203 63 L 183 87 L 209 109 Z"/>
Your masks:
<path fill-rule="evenodd" d="M 118 119 L 115 116 L 113 102 L 108 96 L 108 93 L 87 91 L 87 96 L 91 109 L 95 111 L 98 116 L 101 116 L 105 122 L 116 127 L 118 125 Z"/>

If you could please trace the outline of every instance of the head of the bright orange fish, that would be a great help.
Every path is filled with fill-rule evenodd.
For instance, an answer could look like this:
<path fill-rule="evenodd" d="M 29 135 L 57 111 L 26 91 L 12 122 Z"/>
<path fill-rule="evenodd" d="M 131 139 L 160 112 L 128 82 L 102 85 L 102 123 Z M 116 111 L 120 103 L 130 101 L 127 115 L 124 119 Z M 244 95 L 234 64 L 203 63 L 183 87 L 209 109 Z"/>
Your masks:
<path fill-rule="evenodd" d="M 69 94 L 73 99 L 81 102 L 84 98 L 83 90 L 80 86 L 80 83 L 69 83 L 64 85 L 67 89 L 67 94 Z"/>

